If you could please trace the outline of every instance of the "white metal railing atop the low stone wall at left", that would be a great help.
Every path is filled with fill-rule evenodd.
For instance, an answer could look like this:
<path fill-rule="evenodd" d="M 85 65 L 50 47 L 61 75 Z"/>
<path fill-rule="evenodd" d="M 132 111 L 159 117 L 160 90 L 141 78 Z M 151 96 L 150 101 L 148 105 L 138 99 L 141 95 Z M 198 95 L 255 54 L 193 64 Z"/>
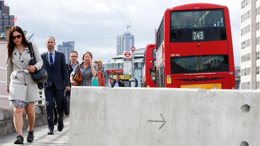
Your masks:
<path fill-rule="evenodd" d="M 6 68 L 0 67 L 0 71 L 6 72 Z M 6 86 L 6 82 L 5 81 L 0 81 L 0 85 Z M 37 103 L 35 103 L 35 105 L 45 105 L 44 91 L 43 90 L 39 90 L 39 94 L 40 94 L 40 99 L 38 100 Z M 7 99 L 8 100 L 8 96 L 0 95 L 0 99 Z M 12 101 L 9 102 L 9 106 L 13 106 Z"/>

